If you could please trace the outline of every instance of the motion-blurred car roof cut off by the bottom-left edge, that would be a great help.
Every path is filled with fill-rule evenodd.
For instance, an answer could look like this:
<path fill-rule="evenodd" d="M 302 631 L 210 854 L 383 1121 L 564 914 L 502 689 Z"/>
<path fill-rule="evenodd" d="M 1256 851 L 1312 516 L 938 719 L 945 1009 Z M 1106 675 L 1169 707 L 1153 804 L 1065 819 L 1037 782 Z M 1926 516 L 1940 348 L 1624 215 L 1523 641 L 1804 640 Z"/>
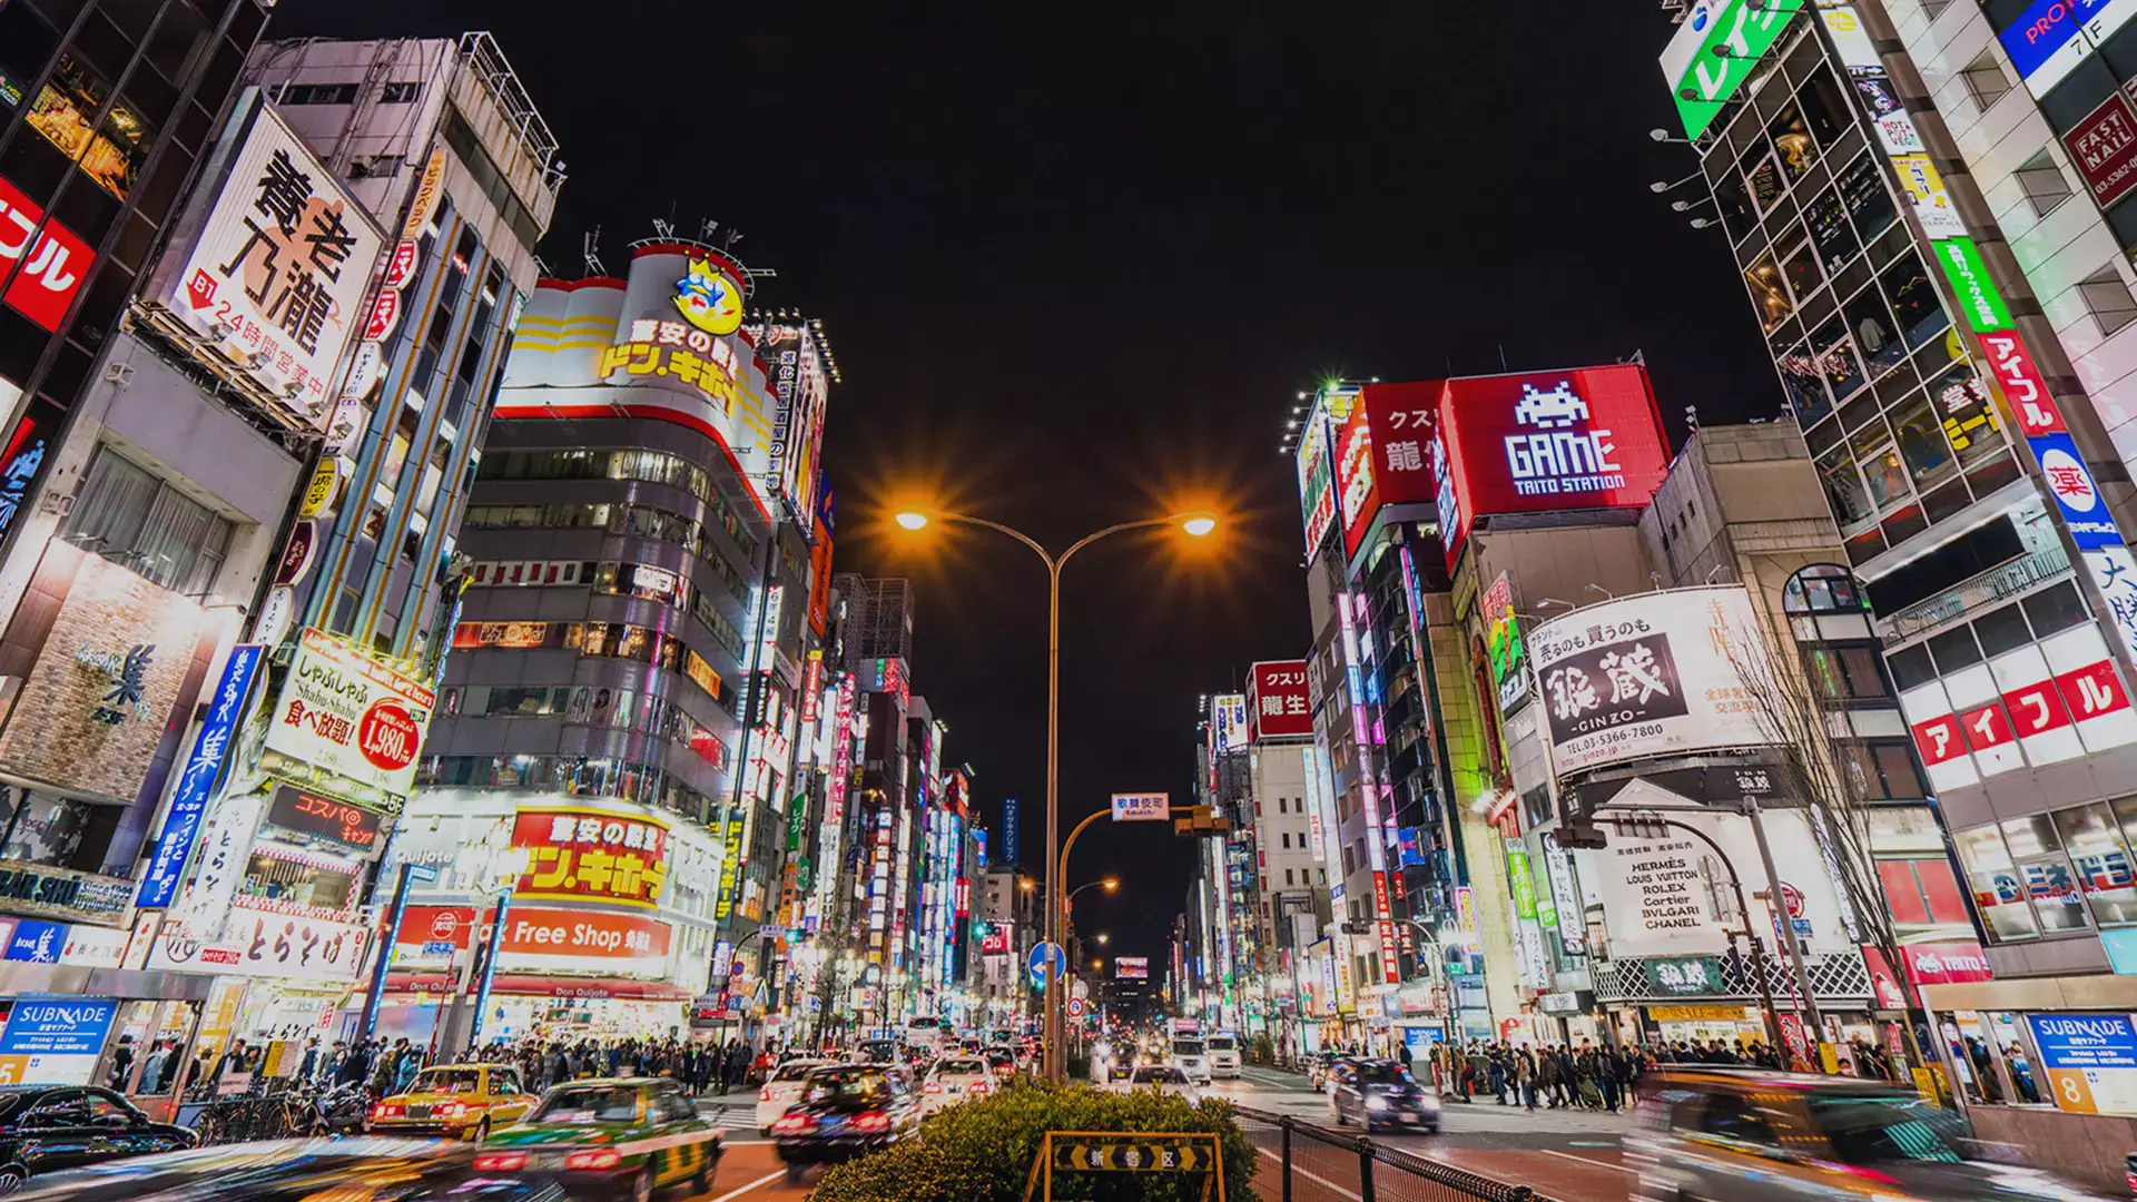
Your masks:
<path fill-rule="evenodd" d="M 11 1202 L 560 1202 L 539 1174 L 474 1170 L 477 1146 L 440 1140 L 265 1140 L 150 1155 L 38 1181 Z"/>

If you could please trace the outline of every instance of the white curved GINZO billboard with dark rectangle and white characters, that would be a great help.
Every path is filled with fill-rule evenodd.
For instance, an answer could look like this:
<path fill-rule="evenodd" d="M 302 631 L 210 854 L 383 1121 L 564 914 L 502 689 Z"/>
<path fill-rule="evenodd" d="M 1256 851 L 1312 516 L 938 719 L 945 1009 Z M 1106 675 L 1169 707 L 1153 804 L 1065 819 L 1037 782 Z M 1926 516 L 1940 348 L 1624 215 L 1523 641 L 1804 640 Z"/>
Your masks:
<path fill-rule="evenodd" d="M 1765 644 L 1742 586 L 1641 592 L 1530 639 L 1558 772 L 1774 742 L 1737 663 Z M 1733 659 L 1731 659 L 1733 657 Z"/>

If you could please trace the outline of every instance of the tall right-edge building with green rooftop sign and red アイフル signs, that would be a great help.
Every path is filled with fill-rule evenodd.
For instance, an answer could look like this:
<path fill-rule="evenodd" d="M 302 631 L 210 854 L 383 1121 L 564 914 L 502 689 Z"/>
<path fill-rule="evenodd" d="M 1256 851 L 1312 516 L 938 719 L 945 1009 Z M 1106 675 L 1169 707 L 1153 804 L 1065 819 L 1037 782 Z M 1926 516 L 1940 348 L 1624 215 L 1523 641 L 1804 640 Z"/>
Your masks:
<path fill-rule="evenodd" d="M 2137 34 L 2120 11 L 2017 0 L 1733 9 L 1675 30 L 1665 83 L 1987 941 L 1908 984 L 1977 1129 L 2107 1183 L 2094 1119 L 1990 1101 L 2026 1097 L 2011 1061 L 2069 1080 L 2056 1018 L 2126 1024 L 2137 1003 L 2120 984 L 2137 962 L 2120 802 Z M 1742 45 L 1714 71 L 1722 28 Z"/>

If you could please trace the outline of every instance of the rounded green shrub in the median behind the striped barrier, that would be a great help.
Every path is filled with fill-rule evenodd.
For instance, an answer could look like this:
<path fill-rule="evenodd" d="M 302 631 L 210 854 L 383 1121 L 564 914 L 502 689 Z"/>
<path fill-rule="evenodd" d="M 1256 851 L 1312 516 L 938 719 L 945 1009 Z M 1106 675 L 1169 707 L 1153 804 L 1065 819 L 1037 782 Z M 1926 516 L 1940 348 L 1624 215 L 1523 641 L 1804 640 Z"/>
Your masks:
<path fill-rule="evenodd" d="M 1254 1144 L 1231 1121 L 1231 1104 L 1184 1099 L 1154 1089 L 1107 1093 L 1088 1084 L 1007 1089 L 964 1101 L 921 1123 L 921 1138 L 833 1168 L 814 1202 L 1017 1202 L 1047 1131 L 1214 1131 L 1225 1157 L 1227 1200 L 1254 1198 Z M 1098 1202 L 1201 1198 L 1201 1174 L 1058 1172 L 1056 1198 Z M 1214 1196 L 1212 1196 L 1214 1198 Z"/>

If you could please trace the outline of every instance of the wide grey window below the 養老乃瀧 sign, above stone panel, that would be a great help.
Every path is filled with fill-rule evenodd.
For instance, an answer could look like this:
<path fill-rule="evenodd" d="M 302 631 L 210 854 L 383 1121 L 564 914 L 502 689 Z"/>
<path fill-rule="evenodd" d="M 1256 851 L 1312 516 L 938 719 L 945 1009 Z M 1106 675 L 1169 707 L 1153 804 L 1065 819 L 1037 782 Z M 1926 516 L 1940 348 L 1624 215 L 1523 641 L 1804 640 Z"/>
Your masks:
<path fill-rule="evenodd" d="M 60 537 L 173 592 L 205 597 L 222 571 L 231 524 L 103 447 Z"/>

